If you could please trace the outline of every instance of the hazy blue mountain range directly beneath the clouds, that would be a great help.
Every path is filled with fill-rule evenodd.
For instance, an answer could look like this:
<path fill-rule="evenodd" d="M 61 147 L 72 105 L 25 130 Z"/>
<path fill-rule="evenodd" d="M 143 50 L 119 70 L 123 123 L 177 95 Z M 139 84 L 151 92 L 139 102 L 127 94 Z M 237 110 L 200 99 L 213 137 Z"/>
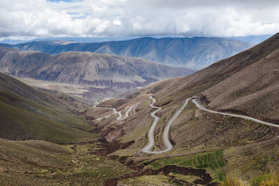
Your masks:
<path fill-rule="evenodd" d="M 254 44 L 218 37 L 141 37 L 134 40 L 76 43 L 73 41 L 40 41 L 23 44 L 0 44 L 22 51 L 58 54 L 66 51 L 91 51 L 115 56 L 137 57 L 165 65 L 202 69 L 228 58 Z"/>

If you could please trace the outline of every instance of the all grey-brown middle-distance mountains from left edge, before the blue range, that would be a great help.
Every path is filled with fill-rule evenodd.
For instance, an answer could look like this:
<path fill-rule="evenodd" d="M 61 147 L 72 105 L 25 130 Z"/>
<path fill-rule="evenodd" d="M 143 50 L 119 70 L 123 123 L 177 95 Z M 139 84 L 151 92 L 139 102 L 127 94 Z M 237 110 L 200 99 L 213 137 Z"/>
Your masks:
<path fill-rule="evenodd" d="M 194 72 L 193 69 L 169 67 L 142 58 L 91 52 L 66 52 L 51 56 L 40 51 L 15 51 L 0 47 L 0 57 L 0 71 L 13 76 L 117 90 Z"/>

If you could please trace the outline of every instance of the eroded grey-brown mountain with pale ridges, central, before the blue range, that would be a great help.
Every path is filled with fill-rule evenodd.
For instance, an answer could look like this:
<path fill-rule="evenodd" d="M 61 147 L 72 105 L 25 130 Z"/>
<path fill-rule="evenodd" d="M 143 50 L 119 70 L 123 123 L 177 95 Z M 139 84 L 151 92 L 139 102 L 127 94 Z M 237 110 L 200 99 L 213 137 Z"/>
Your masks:
<path fill-rule="evenodd" d="M 66 52 L 48 60 L 33 77 L 62 83 L 130 89 L 192 73 L 191 69 L 168 67 L 140 58 Z"/>

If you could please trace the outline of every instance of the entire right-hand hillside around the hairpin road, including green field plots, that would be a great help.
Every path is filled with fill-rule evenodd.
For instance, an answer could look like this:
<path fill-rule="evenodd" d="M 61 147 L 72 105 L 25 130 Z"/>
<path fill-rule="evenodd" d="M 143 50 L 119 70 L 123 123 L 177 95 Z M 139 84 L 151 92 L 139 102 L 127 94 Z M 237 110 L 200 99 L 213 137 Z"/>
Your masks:
<path fill-rule="evenodd" d="M 206 112 L 198 109 L 192 101 L 170 129 L 169 137 L 174 149 L 147 155 L 142 148 L 149 142 L 147 133 L 154 121 L 151 113 L 155 109 L 149 106 L 151 94 L 156 100 L 155 106 L 162 108 L 156 112 L 159 119 L 153 151 L 165 149 L 162 138 L 167 121 L 187 98 L 193 96 L 198 96 L 198 102 L 211 110 L 248 115 L 278 124 L 278 46 L 279 33 L 190 76 L 151 83 L 123 101 L 100 103 L 99 107 L 114 106 L 122 114 L 137 105 L 127 119 L 116 120 L 117 115 L 113 115 L 94 121 L 107 140 L 132 143 L 109 156 L 119 157 L 126 164 L 133 161 L 131 166 L 137 170 L 141 166 L 140 169 L 150 166 L 158 169 L 167 165 L 206 169 L 217 182 L 225 180 L 226 174 L 241 177 L 250 183 L 256 178 L 262 179 L 262 174 L 277 174 L 278 128 Z M 92 108 L 87 114 L 94 116 L 96 109 Z M 133 183 L 135 180 L 121 183 Z"/>

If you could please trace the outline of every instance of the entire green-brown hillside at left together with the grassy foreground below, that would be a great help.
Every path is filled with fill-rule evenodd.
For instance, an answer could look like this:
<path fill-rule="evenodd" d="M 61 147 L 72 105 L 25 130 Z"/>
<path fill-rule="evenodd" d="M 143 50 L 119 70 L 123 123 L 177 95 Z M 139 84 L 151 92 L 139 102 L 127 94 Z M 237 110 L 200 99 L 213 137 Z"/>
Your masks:
<path fill-rule="evenodd" d="M 0 185 L 97 186 L 133 171 L 94 155 L 105 140 L 61 96 L 0 73 Z"/>

